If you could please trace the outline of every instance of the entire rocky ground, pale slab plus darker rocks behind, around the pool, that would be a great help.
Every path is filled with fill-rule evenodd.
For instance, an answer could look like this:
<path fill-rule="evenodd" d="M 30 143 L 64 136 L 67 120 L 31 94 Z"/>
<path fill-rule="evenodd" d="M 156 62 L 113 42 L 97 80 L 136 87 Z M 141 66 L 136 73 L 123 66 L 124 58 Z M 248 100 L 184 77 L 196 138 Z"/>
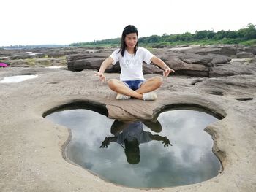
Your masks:
<path fill-rule="evenodd" d="M 112 51 L 79 47 L 0 50 L 0 61 L 12 66 L 0 69 L 0 81 L 14 75 L 38 75 L 23 82 L 0 83 L 1 191 L 147 191 L 107 183 L 64 159 L 71 135 L 42 114 L 75 101 L 103 107 L 110 118 L 151 119 L 166 107 L 177 105 L 222 115 L 225 118 L 206 131 L 214 139 L 213 150 L 222 161 L 223 171 L 203 183 L 150 191 L 256 191 L 255 47 L 151 50 L 176 70 L 156 91 L 156 101 L 116 101 L 108 85 L 94 77 Z M 31 58 L 33 64 L 28 63 Z M 107 78 L 118 78 L 118 70 L 118 65 L 110 68 L 108 72 L 113 73 L 107 73 Z M 146 79 L 161 73 L 153 65 L 145 65 L 144 71 Z"/>

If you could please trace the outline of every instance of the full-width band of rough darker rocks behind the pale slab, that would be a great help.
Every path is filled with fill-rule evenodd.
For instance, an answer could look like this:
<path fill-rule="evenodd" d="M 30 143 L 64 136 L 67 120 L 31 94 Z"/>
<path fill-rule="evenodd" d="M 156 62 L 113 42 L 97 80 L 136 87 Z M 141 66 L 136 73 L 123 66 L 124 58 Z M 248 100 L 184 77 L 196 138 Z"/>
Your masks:
<path fill-rule="evenodd" d="M 66 66 L 72 71 L 99 69 L 113 50 L 103 48 L 66 47 L 34 50 L 1 50 L 0 61 L 10 66 Z M 208 45 L 162 47 L 151 49 L 174 69 L 175 75 L 192 77 L 225 77 L 238 74 L 256 74 L 256 47 L 243 45 Z M 120 72 L 117 63 L 106 72 Z M 162 74 L 154 65 L 143 65 L 144 74 Z"/>

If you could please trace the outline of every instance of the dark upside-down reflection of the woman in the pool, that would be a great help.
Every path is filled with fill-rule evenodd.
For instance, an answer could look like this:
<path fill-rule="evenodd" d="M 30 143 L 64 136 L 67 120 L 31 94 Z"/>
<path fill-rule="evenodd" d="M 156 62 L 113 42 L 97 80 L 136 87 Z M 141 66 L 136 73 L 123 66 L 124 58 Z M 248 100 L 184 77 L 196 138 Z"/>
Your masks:
<path fill-rule="evenodd" d="M 100 147 L 108 147 L 110 142 L 117 142 L 124 148 L 124 153 L 127 156 L 129 164 L 138 164 L 140 162 L 140 148 L 141 143 L 150 142 L 152 140 L 162 141 L 164 147 L 168 147 L 170 140 L 167 137 L 162 137 L 158 134 L 151 134 L 151 132 L 143 131 L 143 124 L 151 131 L 161 132 L 162 126 L 157 122 L 151 121 L 119 121 L 115 120 L 111 126 L 111 134 L 114 137 L 105 137 Z M 124 145 L 124 146 L 123 146 Z"/>

